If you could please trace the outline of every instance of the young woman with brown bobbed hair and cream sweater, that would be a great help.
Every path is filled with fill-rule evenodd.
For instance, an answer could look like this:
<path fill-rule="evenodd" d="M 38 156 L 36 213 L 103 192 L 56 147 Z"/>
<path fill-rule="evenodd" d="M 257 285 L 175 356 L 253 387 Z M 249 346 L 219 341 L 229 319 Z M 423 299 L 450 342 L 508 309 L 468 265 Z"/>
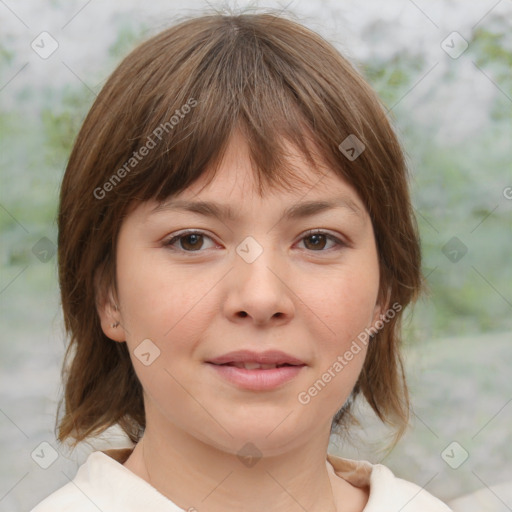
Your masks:
<path fill-rule="evenodd" d="M 34 512 L 449 510 L 327 453 L 358 396 L 403 432 L 421 272 L 400 145 L 319 35 L 207 15 L 128 55 L 64 176 L 59 277 L 59 441 L 133 446 Z"/>

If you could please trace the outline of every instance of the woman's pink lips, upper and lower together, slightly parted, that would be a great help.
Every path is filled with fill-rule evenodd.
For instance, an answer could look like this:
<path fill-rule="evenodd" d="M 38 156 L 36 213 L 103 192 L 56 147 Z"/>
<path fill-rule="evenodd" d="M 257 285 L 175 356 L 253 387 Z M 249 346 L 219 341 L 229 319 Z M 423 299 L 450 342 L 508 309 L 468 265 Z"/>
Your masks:
<path fill-rule="evenodd" d="M 239 350 L 211 359 L 207 363 L 223 379 L 242 389 L 253 391 L 275 389 L 296 377 L 306 367 L 300 359 L 277 350 L 261 353 Z M 241 368 L 244 363 L 249 368 Z M 251 368 L 255 365 L 286 366 Z"/>

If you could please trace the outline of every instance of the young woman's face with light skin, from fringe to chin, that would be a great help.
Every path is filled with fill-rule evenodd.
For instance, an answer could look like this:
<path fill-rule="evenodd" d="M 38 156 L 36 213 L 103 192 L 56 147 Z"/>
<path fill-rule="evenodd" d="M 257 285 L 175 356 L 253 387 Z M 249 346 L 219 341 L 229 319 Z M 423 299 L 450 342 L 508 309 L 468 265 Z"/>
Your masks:
<path fill-rule="evenodd" d="M 329 433 L 348 398 L 366 355 L 353 341 L 381 312 L 372 224 L 333 171 L 292 159 L 304 183 L 260 197 L 245 143 L 234 137 L 207 187 L 201 179 L 170 199 L 230 207 L 232 217 L 176 204 L 155 210 L 156 202 L 126 217 L 119 327 L 108 307 L 100 316 L 106 335 L 128 344 L 148 428 L 179 428 L 230 453 L 251 441 L 278 454 Z M 297 209 L 317 201 L 334 206 Z M 240 350 L 253 361 L 280 351 L 293 365 L 218 359 Z"/>

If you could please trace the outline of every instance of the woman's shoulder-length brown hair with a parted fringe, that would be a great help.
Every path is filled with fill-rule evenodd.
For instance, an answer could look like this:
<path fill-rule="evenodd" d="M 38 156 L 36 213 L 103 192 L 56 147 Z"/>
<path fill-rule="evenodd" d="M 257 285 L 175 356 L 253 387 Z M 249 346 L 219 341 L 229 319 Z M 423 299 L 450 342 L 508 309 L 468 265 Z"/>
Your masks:
<path fill-rule="evenodd" d="M 96 301 L 101 290 L 116 289 L 116 240 L 131 206 L 167 199 L 207 172 L 213 178 L 236 129 L 249 145 L 260 194 L 265 186 L 291 186 L 285 141 L 312 168 L 318 161 L 312 148 L 318 150 L 369 212 L 381 303 L 405 308 L 417 298 L 420 247 L 404 156 L 363 78 L 330 43 L 282 16 L 188 19 L 138 46 L 113 72 L 85 119 L 64 175 L 58 260 L 70 343 L 59 441 L 72 437 L 76 445 L 115 424 L 133 442 L 140 438 L 142 387 L 126 343 L 104 335 Z M 355 159 L 339 149 L 349 135 L 365 146 Z M 382 421 L 399 434 L 405 429 L 402 312 L 369 344 L 351 399 L 333 428 L 347 424 L 351 401 L 362 393 Z"/>

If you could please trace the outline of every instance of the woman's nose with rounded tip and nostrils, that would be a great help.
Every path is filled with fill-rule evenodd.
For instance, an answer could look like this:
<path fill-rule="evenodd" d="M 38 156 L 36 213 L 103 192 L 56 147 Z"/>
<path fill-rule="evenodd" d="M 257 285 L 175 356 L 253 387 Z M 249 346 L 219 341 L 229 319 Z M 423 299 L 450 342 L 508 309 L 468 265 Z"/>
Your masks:
<path fill-rule="evenodd" d="M 235 254 L 226 280 L 227 318 L 260 326 L 289 322 L 295 311 L 290 267 L 270 248 L 263 249 L 254 261 L 240 254 Z"/>

